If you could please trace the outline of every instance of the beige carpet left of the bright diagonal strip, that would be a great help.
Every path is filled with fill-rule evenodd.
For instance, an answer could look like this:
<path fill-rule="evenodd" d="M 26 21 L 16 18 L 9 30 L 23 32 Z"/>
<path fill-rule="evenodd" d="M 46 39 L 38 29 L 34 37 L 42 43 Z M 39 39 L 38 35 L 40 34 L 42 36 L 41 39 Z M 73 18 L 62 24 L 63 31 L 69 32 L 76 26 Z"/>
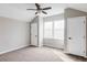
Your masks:
<path fill-rule="evenodd" d="M 0 55 L 0 62 L 63 62 L 63 59 L 48 47 L 24 47 Z"/>

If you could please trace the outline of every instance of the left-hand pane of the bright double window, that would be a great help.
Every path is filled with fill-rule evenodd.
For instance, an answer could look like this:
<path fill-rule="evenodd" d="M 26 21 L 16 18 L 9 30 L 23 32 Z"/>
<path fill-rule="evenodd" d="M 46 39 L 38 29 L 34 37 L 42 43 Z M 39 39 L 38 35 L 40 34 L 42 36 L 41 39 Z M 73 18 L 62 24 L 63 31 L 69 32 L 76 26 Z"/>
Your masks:
<path fill-rule="evenodd" d="M 53 22 L 44 22 L 44 37 L 53 37 Z"/>

